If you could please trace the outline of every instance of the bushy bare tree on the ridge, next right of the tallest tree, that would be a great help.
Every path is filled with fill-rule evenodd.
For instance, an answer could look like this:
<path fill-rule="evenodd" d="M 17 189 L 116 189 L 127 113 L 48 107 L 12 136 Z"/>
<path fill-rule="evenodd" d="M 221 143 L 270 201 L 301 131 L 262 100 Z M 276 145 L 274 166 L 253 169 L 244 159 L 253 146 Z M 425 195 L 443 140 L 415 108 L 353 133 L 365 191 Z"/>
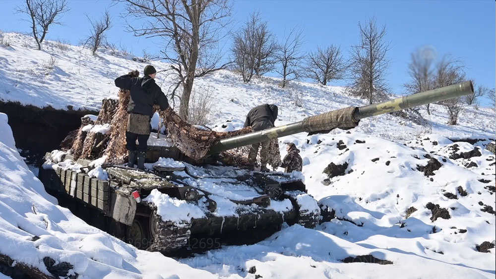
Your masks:
<path fill-rule="evenodd" d="M 259 12 L 252 12 L 245 25 L 234 34 L 231 47 L 234 64 L 243 75 L 243 81 L 249 82 L 253 75 L 260 77 L 273 70 L 278 49 L 267 22 L 262 21 Z"/>

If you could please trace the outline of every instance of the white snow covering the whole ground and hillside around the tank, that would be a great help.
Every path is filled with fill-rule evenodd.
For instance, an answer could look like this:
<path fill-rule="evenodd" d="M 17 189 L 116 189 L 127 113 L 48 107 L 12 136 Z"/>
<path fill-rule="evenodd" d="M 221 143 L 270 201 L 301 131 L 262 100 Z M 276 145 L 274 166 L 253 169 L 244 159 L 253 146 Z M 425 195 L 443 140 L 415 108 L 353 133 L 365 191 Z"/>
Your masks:
<path fill-rule="evenodd" d="M 93 57 L 72 46 L 62 52 L 53 42 L 40 52 L 22 35 L 3 36 L 11 43 L 0 47 L 3 101 L 98 109 L 101 99 L 116 96 L 116 76 L 145 65 L 128 56 Z M 53 69 L 51 57 L 57 61 Z M 167 67 L 153 64 L 158 70 Z M 273 78 L 251 84 L 240 80 L 220 71 L 195 81 L 195 92 L 208 92 L 215 100 L 217 130 L 239 128 L 249 109 L 263 103 L 279 106 L 276 125 L 365 105 L 338 87 L 303 83 L 281 89 Z M 159 84 L 167 92 L 168 81 L 159 76 Z M 298 100 L 302 106 L 295 105 Z M 309 193 L 336 218 L 315 229 L 284 227 L 254 245 L 181 260 L 136 250 L 57 206 L 22 162 L 6 116 L 0 114 L 0 253 L 42 271 L 43 257 L 50 256 L 73 264 L 85 278 L 494 278 L 495 248 L 489 253 L 476 249 L 485 241 L 494 244 L 496 234 L 489 208 L 496 208 L 496 161 L 485 150 L 491 140 L 450 139 L 494 142 L 495 110 L 468 107 L 460 125 L 449 126 L 444 109 L 432 107 L 427 127 L 380 115 L 363 119 L 350 132 L 282 138 L 301 150 Z M 280 146 L 284 156 L 285 146 Z M 332 174 L 323 173 L 331 163 Z M 40 239 L 31 241 L 35 235 Z M 392 264 L 345 263 L 362 255 Z"/>

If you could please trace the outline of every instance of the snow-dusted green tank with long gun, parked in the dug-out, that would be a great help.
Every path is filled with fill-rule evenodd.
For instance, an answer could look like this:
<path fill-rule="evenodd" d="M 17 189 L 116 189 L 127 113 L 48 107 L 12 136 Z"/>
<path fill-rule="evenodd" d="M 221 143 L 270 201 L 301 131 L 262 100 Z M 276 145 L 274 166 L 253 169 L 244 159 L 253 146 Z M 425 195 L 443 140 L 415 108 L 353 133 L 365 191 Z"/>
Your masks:
<path fill-rule="evenodd" d="M 473 94 L 472 83 L 464 82 L 361 108 L 326 112 L 300 122 L 220 139 L 206 154 L 299 132 L 350 129 L 365 117 L 469 94 Z M 80 131 L 87 121 L 83 121 Z M 106 121 L 115 122 L 110 118 Z M 86 136 L 95 148 L 102 148 L 108 137 Z M 87 153 L 96 154 L 91 148 Z M 313 228 L 320 220 L 319 206 L 307 193 L 301 174 L 204 164 L 208 160 L 202 164 L 168 144 L 148 147 L 147 161 L 155 163 L 147 165 L 146 171 L 119 164 L 94 167 L 92 160 L 61 152 L 47 153 L 45 159 L 39 178 L 62 206 L 149 251 L 214 249 L 237 239 L 241 239 L 237 244 L 249 244 L 277 231 L 283 223 Z M 108 179 L 94 177 L 95 172 L 103 170 Z"/>

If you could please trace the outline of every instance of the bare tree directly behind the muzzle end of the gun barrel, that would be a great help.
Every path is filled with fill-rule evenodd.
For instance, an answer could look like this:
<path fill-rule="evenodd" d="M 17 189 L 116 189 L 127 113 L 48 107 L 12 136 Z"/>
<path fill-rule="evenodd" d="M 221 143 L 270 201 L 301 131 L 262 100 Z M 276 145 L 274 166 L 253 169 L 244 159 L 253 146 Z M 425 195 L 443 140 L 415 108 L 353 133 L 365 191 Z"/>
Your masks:
<path fill-rule="evenodd" d="M 464 64 L 457 59 L 443 56 L 437 63 L 434 70 L 433 84 L 434 88 L 444 87 L 462 82 L 465 79 Z M 458 115 L 464 107 L 461 97 L 439 102 L 448 112 L 448 124 L 456 125 Z"/>

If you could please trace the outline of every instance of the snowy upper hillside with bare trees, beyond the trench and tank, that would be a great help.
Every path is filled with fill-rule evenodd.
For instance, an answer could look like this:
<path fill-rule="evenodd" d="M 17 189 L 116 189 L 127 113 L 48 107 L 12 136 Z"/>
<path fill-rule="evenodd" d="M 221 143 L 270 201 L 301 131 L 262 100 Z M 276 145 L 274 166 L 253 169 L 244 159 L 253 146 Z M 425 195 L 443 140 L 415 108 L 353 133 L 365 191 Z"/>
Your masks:
<path fill-rule="evenodd" d="M 37 107 L 51 106 L 67 110 L 100 108 L 102 99 L 117 98 L 114 79 L 130 69 L 141 74 L 147 63 L 137 58 L 109 50 L 101 50 L 97 57 L 80 47 L 48 41 L 44 51 L 35 50 L 32 38 L 17 33 L 4 33 L 10 47 L 0 47 L 0 100 Z M 63 49 L 63 50 L 61 50 Z M 154 61 L 157 70 L 168 64 Z M 169 92 L 171 81 L 158 73 L 162 91 Z M 279 107 L 277 125 L 300 121 L 309 115 L 348 106 L 367 105 L 364 100 L 343 94 L 343 88 L 317 84 L 293 84 L 281 89 L 280 80 L 264 77 L 244 84 L 240 76 L 230 71 L 195 79 L 193 94 L 213 99 L 212 123 L 235 118 L 244 120 L 254 106 L 269 103 Z M 296 106 L 298 103 L 299 106 Z M 179 104 L 179 102 L 176 102 Z M 432 106 L 427 119 L 431 125 L 419 126 L 389 114 L 363 119 L 355 130 L 393 141 L 404 141 L 424 133 L 436 133 L 450 138 L 495 137 L 495 111 L 489 108 L 468 107 L 460 113 L 459 125 L 445 125 L 447 117 L 440 106 Z"/>

